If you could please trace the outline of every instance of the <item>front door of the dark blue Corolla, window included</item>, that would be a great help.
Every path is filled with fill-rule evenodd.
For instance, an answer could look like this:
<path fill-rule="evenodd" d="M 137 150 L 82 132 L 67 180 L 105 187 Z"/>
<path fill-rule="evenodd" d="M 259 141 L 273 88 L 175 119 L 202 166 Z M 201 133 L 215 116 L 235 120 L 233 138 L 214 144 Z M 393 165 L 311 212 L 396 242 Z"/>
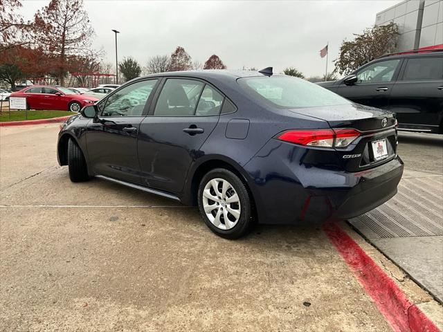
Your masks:
<path fill-rule="evenodd" d="M 94 174 L 140 183 L 138 131 L 157 82 L 134 82 L 98 104 L 100 116 L 87 127 L 89 163 Z"/>

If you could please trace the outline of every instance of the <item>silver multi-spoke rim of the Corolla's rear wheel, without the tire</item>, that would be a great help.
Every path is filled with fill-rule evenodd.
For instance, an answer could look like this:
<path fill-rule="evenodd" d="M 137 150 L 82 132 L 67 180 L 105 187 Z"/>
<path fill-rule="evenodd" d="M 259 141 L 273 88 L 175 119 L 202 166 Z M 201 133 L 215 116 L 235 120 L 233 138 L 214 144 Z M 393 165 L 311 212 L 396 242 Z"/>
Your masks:
<path fill-rule="evenodd" d="M 213 225 L 221 230 L 237 225 L 241 206 L 233 185 L 223 178 L 213 178 L 206 183 L 202 195 L 204 211 Z"/>

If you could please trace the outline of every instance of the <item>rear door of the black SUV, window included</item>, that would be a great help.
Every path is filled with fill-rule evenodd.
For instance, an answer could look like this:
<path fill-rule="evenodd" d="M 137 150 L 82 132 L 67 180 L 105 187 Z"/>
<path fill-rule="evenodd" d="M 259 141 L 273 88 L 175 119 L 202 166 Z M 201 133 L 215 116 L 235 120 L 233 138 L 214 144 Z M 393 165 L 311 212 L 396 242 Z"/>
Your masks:
<path fill-rule="evenodd" d="M 399 127 L 438 131 L 443 112 L 443 57 L 409 57 L 390 95 Z"/>

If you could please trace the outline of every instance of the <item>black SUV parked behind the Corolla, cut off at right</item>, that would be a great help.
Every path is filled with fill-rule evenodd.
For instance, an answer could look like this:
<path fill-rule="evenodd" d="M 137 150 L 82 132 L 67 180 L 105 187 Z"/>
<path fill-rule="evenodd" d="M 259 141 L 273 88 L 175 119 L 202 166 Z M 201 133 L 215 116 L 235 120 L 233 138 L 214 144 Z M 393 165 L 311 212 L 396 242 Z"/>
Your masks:
<path fill-rule="evenodd" d="M 400 130 L 443 133 L 443 49 L 384 55 L 340 80 L 318 84 L 397 113 Z"/>

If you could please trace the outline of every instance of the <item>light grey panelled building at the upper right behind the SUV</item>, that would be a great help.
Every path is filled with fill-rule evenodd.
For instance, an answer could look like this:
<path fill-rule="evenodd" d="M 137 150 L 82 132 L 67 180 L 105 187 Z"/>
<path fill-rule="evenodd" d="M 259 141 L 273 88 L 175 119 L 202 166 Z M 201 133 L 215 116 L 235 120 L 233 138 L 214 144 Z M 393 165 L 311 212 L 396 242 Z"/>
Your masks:
<path fill-rule="evenodd" d="M 397 52 L 443 47 L 443 0 L 404 0 L 377 13 L 376 26 L 399 28 Z"/>

